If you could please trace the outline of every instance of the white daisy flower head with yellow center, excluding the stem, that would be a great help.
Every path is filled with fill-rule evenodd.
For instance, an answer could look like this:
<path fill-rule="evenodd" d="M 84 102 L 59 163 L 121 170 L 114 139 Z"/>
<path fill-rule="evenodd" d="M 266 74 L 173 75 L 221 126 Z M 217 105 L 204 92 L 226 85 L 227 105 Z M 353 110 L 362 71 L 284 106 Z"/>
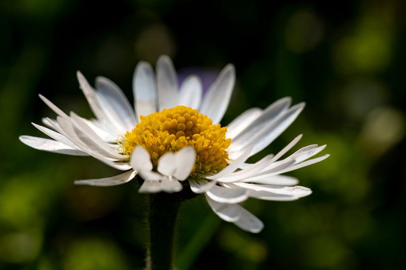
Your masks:
<path fill-rule="evenodd" d="M 282 173 L 326 159 L 329 155 L 311 159 L 325 145 L 309 145 L 283 158 L 301 139 L 299 135 L 277 154 L 246 162 L 296 119 L 304 103 L 291 106 L 291 98 L 283 98 L 265 109 L 250 108 L 222 127 L 219 123 L 235 84 L 232 64 L 220 72 L 204 96 L 195 75 L 178 85 L 168 56 L 158 59 L 156 73 L 149 63 L 138 63 L 133 109 L 112 81 L 97 77 L 93 88 L 78 72 L 80 88 L 96 118 L 66 114 L 40 95 L 58 116 L 43 118 L 46 126 L 33 125 L 52 139 L 20 136 L 20 140 L 38 150 L 92 156 L 125 171 L 75 184 L 113 186 L 138 174 L 143 179 L 139 192 L 174 193 L 187 188 L 205 194 L 214 213 L 254 233 L 262 230 L 263 223 L 240 203 L 248 198 L 293 201 L 312 193 L 297 186 L 298 179 Z"/>

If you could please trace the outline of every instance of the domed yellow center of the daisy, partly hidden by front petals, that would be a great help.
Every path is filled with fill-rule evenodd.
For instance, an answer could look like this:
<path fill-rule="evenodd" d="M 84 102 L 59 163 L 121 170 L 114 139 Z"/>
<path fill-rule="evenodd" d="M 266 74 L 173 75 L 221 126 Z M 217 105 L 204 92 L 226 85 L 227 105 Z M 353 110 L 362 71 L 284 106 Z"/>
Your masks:
<path fill-rule="evenodd" d="M 231 143 L 231 139 L 226 139 L 227 127 L 213 125 L 212 120 L 197 109 L 176 106 L 140 118 L 141 122 L 124 135 L 123 154 L 130 155 L 141 145 L 150 153 L 156 168 L 163 154 L 192 146 L 196 152 L 192 177 L 217 173 L 226 167 L 226 149 Z"/>

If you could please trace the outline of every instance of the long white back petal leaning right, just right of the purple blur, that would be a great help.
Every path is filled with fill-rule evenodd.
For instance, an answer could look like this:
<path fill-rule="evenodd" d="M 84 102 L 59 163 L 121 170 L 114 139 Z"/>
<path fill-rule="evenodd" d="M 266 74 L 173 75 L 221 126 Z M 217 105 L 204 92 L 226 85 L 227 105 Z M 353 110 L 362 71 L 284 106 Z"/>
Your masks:
<path fill-rule="evenodd" d="M 219 123 L 223 118 L 229 106 L 235 82 L 236 70 L 234 65 L 228 64 L 207 90 L 199 111 L 211 118 L 214 124 Z"/>

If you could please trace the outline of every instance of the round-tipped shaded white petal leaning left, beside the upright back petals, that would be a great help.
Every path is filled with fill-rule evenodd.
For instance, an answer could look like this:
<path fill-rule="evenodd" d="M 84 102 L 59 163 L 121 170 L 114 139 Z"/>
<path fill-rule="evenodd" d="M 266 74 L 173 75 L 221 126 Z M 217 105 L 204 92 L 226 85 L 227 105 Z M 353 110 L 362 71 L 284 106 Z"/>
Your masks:
<path fill-rule="evenodd" d="M 119 116 L 127 130 L 131 130 L 137 124 L 134 109 L 131 107 L 123 91 L 112 81 L 104 77 L 96 78 L 96 89 L 104 97 L 111 108 Z"/>

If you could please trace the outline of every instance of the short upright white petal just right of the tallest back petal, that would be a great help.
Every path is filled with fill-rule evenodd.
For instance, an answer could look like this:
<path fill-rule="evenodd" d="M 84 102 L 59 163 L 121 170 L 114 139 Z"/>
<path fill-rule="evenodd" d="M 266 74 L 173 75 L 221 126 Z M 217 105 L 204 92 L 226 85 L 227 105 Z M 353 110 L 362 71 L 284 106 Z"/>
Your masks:
<path fill-rule="evenodd" d="M 180 85 L 177 105 L 198 109 L 202 102 L 202 93 L 200 78 L 190 75 Z"/>

